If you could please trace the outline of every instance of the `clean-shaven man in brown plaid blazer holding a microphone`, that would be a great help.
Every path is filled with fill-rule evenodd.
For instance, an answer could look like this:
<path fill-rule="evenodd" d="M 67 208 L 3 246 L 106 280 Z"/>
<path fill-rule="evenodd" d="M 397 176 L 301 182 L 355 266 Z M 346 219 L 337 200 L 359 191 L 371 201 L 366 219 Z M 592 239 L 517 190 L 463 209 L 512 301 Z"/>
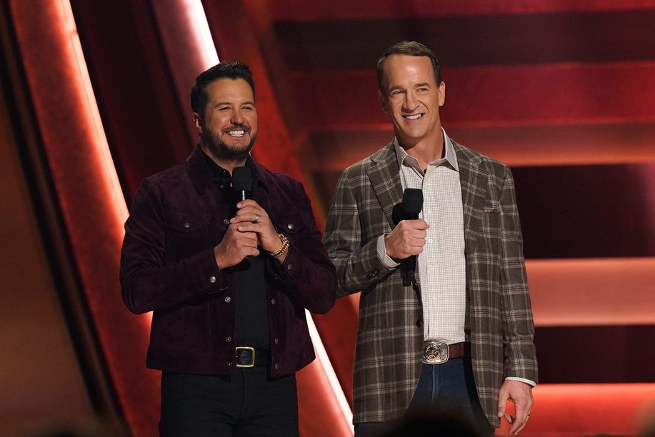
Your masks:
<path fill-rule="evenodd" d="M 356 436 L 374 435 L 408 409 L 444 408 L 482 434 L 501 417 L 518 433 L 537 366 L 511 172 L 441 128 L 445 84 L 426 46 L 391 46 L 378 79 L 395 138 L 341 174 L 324 237 L 338 296 L 361 291 Z M 394 211 L 408 188 L 422 190 L 421 218 L 399 221 Z"/>

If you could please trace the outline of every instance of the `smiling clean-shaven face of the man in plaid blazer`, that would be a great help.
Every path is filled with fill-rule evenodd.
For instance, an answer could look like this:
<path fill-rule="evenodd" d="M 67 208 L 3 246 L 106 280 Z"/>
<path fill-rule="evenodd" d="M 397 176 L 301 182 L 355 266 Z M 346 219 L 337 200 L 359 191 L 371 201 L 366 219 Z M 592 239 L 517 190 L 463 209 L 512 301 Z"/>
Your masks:
<path fill-rule="evenodd" d="M 446 99 L 446 84 L 436 84 L 426 56 L 394 54 L 384 61 L 379 92 L 382 110 L 389 114 L 399 143 L 406 149 L 421 142 L 441 147 L 439 106 Z"/>

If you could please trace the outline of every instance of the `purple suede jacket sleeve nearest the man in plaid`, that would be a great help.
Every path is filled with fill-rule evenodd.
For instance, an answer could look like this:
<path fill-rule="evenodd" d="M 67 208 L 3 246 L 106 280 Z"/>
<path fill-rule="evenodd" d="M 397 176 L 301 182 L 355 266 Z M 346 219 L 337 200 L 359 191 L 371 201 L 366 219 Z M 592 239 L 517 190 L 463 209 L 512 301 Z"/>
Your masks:
<path fill-rule="evenodd" d="M 281 265 L 269 257 L 269 266 L 291 301 L 312 313 L 326 313 L 334 306 L 336 299 L 334 265 L 321 242 L 321 232 L 316 226 L 309 197 L 298 181 L 294 181 L 293 191 L 292 199 L 299 216 L 294 227 L 298 228 L 297 231 L 288 228 L 280 230 L 287 233 L 291 241 L 289 253 Z"/>

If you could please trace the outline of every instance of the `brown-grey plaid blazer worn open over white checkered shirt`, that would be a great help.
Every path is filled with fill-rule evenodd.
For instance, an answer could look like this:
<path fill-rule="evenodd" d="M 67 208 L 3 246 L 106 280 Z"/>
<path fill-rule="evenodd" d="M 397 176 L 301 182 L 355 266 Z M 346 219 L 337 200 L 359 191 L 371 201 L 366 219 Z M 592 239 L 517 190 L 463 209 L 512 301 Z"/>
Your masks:
<path fill-rule="evenodd" d="M 466 338 L 476 388 L 489 422 L 506 376 L 537 381 L 534 325 L 523 241 L 507 166 L 453 141 L 466 240 Z M 361 291 L 354 363 L 354 423 L 399 418 L 409 406 L 423 360 L 420 292 L 388 269 L 377 238 L 402 201 L 394 143 L 344 170 L 326 223 L 325 244 L 339 279 L 338 297 Z M 417 275 L 418 276 L 418 275 Z"/>

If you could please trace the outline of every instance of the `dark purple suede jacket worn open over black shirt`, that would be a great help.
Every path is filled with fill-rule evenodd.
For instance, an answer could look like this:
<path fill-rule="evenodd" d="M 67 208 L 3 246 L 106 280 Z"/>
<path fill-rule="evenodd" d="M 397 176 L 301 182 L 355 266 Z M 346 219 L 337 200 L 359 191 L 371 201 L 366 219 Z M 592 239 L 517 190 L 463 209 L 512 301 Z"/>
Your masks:
<path fill-rule="evenodd" d="M 283 264 L 266 258 L 271 376 L 314 360 L 304 308 L 334 305 L 335 268 L 321 243 L 309 198 L 299 181 L 246 161 L 253 198 L 291 246 Z M 145 179 L 125 223 L 121 290 L 130 311 L 154 311 L 147 366 L 226 375 L 234 368 L 234 273 L 219 270 L 214 246 L 231 218 L 212 184 L 199 146 L 186 162 Z"/>

